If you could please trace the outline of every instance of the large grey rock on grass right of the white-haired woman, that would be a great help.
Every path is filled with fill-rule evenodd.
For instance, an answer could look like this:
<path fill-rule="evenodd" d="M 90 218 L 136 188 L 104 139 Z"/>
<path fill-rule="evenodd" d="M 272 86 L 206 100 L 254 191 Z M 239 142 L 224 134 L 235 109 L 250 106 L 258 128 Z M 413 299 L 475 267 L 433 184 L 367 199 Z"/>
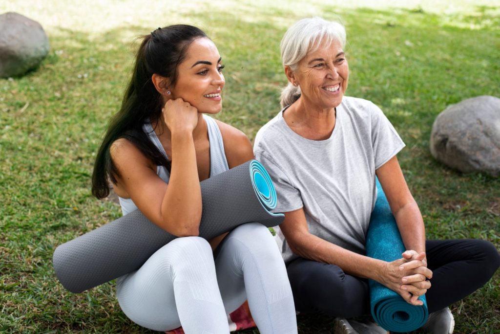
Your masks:
<path fill-rule="evenodd" d="M 500 99 L 478 96 L 448 106 L 432 125 L 430 153 L 464 173 L 500 175 Z"/>

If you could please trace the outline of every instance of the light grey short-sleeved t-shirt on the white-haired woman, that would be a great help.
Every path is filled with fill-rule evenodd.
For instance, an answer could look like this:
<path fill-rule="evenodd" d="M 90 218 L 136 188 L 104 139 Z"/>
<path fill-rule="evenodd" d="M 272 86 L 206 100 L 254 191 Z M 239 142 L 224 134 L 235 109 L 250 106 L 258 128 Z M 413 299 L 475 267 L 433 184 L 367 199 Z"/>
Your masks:
<path fill-rule="evenodd" d="M 293 132 L 281 110 L 257 133 L 255 158 L 269 172 L 277 192 L 274 212 L 304 209 L 309 232 L 364 254 L 375 205 L 375 170 L 404 143 L 373 103 L 344 97 L 333 132 L 309 140 Z M 276 241 L 285 262 L 295 258 L 278 227 Z"/>

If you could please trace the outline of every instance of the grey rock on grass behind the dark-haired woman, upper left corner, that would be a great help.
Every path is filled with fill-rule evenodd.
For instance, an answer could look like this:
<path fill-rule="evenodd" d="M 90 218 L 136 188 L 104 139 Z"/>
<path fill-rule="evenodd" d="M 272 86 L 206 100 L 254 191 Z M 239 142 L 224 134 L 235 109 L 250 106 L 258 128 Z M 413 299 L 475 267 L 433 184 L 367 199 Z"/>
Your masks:
<path fill-rule="evenodd" d="M 39 23 L 17 13 L 0 15 L 0 77 L 23 75 L 40 64 L 48 49 Z"/>

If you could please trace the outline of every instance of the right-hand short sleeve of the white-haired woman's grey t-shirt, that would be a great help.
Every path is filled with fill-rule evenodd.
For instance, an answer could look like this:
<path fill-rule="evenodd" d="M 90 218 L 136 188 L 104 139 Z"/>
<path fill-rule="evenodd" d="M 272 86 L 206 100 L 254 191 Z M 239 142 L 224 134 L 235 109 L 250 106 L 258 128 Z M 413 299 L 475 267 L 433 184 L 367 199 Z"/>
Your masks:
<path fill-rule="evenodd" d="M 371 106 L 371 144 L 375 156 L 375 170 L 395 156 L 405 145 L 383 112 Z"/>

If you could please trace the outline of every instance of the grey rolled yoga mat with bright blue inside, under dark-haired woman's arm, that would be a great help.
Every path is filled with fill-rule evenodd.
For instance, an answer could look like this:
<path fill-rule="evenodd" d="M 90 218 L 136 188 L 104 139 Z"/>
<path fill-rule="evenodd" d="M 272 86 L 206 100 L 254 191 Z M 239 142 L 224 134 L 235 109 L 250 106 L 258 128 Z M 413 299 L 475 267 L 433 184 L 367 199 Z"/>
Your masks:
<path fill-rule="evenodd" d="M 211 239 L 248 222 L 279 225 L 276 191 L 256 160 L 200 182 L 202 213 L 199 236 Z M 135 210 L 59 245 L 53 254 L 55 274 L 79 293 L 138 269 L 156 250 L 176 238 Z"/>

